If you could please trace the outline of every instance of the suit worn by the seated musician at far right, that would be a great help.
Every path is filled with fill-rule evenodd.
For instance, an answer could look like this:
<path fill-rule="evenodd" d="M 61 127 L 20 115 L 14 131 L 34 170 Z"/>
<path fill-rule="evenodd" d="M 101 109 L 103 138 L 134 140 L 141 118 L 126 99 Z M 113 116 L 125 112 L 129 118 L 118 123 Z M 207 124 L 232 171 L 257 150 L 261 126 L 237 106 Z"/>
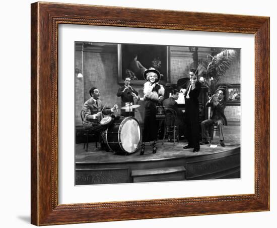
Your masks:
<path fill-rule="evenodd" d="M 226 107 L 225 100 L 222 99 L 218 104 L 216 101 L 206 103 L 207 107 L 211 107 L 210 119 L 207 119 L 201 123 L 202 140 L 207 141 L 208 129 L 211 125 L 217 124 L 220 140 L 224 140 L 223 125 L 227 125 L 227 120 L 224 115 L 224 109 Z"/>

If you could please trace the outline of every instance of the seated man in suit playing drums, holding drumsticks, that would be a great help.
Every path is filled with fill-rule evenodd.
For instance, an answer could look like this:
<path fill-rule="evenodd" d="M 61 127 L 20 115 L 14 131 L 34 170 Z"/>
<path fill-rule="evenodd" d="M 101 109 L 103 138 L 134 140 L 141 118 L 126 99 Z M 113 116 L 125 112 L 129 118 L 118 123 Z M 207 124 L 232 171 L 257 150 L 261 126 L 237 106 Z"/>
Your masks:
<path fill-rule="evenodd" d="M 103 115 L 108 115 L 117 109 L 117 104 L 111 109 L 105 109 L 102 101 L 99 99 L 100 93 L 96 87 L 90 89 L 91 98 L 84 103 L 84 122 L 85 130 L 94 130 L 96 132 L 102 131 L 104 128 L 100 125 Z"/>

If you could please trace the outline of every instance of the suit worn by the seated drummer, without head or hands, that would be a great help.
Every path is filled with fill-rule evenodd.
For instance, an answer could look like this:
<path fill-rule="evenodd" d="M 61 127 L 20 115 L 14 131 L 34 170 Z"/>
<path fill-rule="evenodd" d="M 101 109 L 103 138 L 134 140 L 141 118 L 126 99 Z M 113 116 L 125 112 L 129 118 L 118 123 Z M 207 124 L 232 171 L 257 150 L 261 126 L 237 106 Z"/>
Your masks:
<path fill-rule="evenodd" d="M 101 100 L 97 100 L 98 105 L 94 101 L 94 99 L 91 97 L 84 103 L 84 115 L 85 119 L 83 122 L 83 126 L 85 130 L 95 130 L 95 131 L 101 131 L 103 127 L 100 125 L 100 119 L 94 118 L 93 115 L 97 114 L 99 111 L 103 109 L 103 104 Z M 108 115 L 111 113 L 111 110 L 103 109 L 102 113 L 104 115 Z"/>

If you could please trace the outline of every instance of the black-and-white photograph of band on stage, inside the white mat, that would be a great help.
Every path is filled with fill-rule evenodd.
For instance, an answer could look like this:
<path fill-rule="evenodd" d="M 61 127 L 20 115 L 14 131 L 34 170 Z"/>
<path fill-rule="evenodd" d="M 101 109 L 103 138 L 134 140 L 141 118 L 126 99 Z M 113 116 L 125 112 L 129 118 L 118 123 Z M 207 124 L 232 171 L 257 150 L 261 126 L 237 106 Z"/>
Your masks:
<path fill-rule="evenodd" d="M 239 179 L 240 55 L 75 41 L 75 185 Z"/>

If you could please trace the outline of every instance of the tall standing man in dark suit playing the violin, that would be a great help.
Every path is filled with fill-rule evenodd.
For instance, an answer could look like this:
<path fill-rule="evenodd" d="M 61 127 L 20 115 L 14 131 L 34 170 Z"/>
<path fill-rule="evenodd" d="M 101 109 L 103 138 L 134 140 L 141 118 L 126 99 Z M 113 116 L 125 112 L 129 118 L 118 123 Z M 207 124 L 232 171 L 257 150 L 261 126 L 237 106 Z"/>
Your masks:
<path fill-rule="evenodd" d="M 188 140 L 188 145 L 183 148 L 193 148 L 193 152 L 198 152 L 200 149 L 198 96 L 201 91 L 201 83 L 197 80 L 196 69 L 190 70 L 189 78 L 190 80 L 186 83 L 186 88 L 181 89 L 185 97 L 185 136 Z"/>

